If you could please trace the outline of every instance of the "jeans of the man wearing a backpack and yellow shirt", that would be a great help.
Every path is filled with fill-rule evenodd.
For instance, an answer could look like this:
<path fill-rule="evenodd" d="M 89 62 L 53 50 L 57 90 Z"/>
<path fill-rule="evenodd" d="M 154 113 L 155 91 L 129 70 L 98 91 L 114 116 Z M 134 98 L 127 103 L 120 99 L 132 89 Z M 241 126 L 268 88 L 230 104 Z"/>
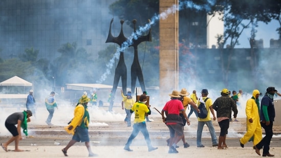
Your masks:
<path fill-rule="evenodd" d="M 201 138 L 202 138 L 202 131 L 203 131 L 203 127 L 204 125 L 207 125 L 207 127 L 209 128 L 210 134 L 211 134 L 211 138 L 212 138 L 212 144 L 218 144 L 217 142 L 217 136 L 215 136 L 215 131 L 213 128 L 213 123 L 212 121 L 198 121 L 198 126 L 197 126 L 197 146 L 202 145 L 201 143 Z"/>

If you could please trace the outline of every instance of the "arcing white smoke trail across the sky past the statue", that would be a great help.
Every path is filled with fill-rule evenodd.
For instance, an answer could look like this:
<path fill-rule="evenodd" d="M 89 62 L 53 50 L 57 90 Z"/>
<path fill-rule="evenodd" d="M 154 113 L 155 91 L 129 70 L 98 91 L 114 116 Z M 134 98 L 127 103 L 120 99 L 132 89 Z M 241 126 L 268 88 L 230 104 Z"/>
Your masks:
<path fill-rule="evenodd" d="M 214 3 L 215 3 L 214 0 L 210 0 L 205 5 L 197 5 L 190 1 L 184 1 L 184 2 L 180 2 L 179 6 L 172 5 L 170 8 L 166 9 L 164 12 L 160 13 L 159 15 L 154 15 L 151 18 L 152 20 L 149 21 L 148 24 L 146 24 L 144 27 L 140 27 L 138 30 L 136 30 L 136 32 L 133 32 L 131 36 L 129 36 L 128 39 L 122 43 L 121 48 L 117 50 L 117 52 L 110 60 L 110 62 L 106 64 L 106 71 L 105 73 L 102 74 L 101 78 L 97 81 L 97 83 L 102 83 L 106 79 L 107 75 L 110 74 L 110 70 L 114 65 L 113 64 L 114 60 L 119 59 L 120 52 L 124 52 L 124 50 L 128 49 L 128 47 L 133 44 L 133 39 L 136 40 L 140 35 L 147 32 L 150 29 L 150 27 L 155 24 L 156 21 L 159 21 L 160 19 L 166 19 L 168 15 L 174 14 L 176 11 L 182 10 L 184 8 L 210 11 L 211 10 L 210 6 L 213 6 Z"/>

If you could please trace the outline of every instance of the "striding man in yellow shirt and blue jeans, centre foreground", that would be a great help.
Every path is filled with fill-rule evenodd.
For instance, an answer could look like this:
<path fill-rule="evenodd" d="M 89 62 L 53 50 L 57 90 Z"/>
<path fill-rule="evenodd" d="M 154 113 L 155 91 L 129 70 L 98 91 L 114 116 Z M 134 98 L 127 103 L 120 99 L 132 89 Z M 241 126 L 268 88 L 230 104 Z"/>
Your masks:
<path fill-rule="evenodd" d="M 153 151 L 158 149 L 157 147 L 153 147 L 149 138 L 149 134 L 145 124 L 145 114 L 150 115 L 150 105 L 145 105 L 146 103 L 146 96 L 141 95 L 138 102 L 136 102 L 133 107 L 131 108 L 131 113 L 135 112 L 135 120 L 133 125 L 133 131 L 131 136 L 128 138 L 128 141 L 124 147 L 124 150 L 133 151 L 130 149 L 130 145 L 132 144 L 133 139 L 135 139 L 138 133 L 141 131 L 144 139 L 146 141 L 148 151 Z"/>

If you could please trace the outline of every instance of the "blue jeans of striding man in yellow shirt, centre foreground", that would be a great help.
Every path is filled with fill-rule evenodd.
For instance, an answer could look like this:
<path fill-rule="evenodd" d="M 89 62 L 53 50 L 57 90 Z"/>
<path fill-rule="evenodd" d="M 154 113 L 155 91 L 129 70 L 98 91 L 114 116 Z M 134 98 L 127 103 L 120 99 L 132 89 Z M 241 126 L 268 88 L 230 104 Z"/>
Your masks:
<path fill-rule="evenodd" d="M 142 134 L 144 136 L 144 139 L 146 141 L 146 144 L 147 144 L 148 148 L 152 147 L 145 122 L 135 123 L 133 125 L 133 132 L 132 132 L 131 136 L 129 137 L 129 139 L 126 143 L 127 147 L 129 147 L 132 144 L 133 139 L 135 139 L 138 136 L 138 133 L 140 131 L 142 132 Z"/>

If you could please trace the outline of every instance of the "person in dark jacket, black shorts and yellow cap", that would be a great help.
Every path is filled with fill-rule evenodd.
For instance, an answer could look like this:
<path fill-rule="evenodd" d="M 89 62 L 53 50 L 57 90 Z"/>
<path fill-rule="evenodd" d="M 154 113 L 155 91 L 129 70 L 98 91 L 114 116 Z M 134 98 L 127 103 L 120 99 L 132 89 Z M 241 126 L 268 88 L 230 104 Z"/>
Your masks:
<path fill-rule="evenodd" d="M 214 101 L 212 108 L 217 111 L 217 119 L 221 127 L 218 149 L 225 149 L 227 148 L 225 140 L 229 128 L 231 110 L 234 112 L 234 118 L 236 118 L 238 113 L 233 99 L 228 96 L 227 89 L 221 91 L 221 97 Z"/>

